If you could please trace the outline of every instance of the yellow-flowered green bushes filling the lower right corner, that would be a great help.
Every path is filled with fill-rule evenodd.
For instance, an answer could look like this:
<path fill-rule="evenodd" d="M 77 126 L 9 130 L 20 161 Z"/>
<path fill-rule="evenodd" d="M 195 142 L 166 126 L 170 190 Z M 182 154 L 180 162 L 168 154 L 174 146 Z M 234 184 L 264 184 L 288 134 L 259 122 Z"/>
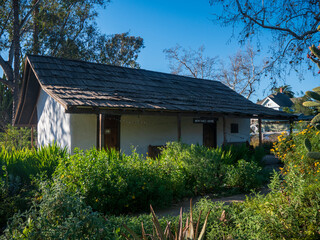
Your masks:
<path fill-rule="evenodd" d="M 284 168 L 274 172 L 267 195 L 257 194 L 232 205 L 205 198 L 197 203 L 195 219 L 200 211 L 211 210 L 207 239 L 320 239 L 320 163 L 306 157 L 306 136 L 318 149 L 320 131 L 310 126 L 291 137 L 279 137 L 274 151 L 284 161 Z M 251 164 L 239 161 L 238 168 Z"/>

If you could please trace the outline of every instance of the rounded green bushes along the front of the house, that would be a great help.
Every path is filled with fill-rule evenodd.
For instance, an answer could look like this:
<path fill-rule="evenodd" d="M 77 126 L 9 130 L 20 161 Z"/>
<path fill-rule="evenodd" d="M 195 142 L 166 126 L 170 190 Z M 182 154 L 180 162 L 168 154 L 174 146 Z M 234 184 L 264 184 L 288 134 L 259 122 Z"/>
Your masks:
<path fill-rule="evenodd" d="M 257 177 L 261 169 L 253 168 L 253 163 L 241 170 L 236 168 L 236 172 L 230 169 L 234 174 L 225 182 L 229 171 L 227 163 L 235 161 L 232 156 L 236 153 L 236 149 L 223 151 L 168 143 L 161 156 L 154 160 L 135 152 L 127 156 L 114 150 L 92 149 L 77 151 L 60 161 L 55 174 L 71 191 L 80 191 L 87 204 L 98 211 L 135 212 L 148 210 L 149 204 L 162 207 L 174 199 L 217 192 L 225 183 L 237 181 L 235 174 L 239 171 L 240 178 L 249 171 L 251 182 L 241 181 L 230 186 L 243 190 L 259 187 L 261 182 L 252 178 Z"/>

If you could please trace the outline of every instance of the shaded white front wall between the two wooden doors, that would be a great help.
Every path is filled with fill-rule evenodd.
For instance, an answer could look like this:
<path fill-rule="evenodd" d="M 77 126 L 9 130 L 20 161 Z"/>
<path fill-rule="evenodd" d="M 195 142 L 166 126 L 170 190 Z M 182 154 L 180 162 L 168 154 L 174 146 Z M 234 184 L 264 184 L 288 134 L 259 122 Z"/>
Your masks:
<path fill-rule="evenodd" d="M 131 153 L 134 146 L 139 154 L 146 154 L 149 145 L 164 145 L 178 140 L 177 117 L 122 115 L 120 148 Z M 202 144 L 202 124 L 193 124 L 193 118 L 181 118 L 181 140 Z"/>

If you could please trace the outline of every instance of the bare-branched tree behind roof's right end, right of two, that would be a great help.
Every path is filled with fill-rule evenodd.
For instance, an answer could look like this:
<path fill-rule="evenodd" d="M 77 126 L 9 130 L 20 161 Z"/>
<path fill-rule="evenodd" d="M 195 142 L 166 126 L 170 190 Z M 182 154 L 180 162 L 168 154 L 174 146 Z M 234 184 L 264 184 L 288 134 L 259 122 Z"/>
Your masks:
<path fill-rule="evenodd" d="M 249 99 L 256 91 L 257 84 L 264 75 L 267 64 L 256 63 L 257 53 L 251 46 L 247 46 L 244 51 L 238 51 L 229 57 L 229 64 L 222 63 L 218 79 Z"/>

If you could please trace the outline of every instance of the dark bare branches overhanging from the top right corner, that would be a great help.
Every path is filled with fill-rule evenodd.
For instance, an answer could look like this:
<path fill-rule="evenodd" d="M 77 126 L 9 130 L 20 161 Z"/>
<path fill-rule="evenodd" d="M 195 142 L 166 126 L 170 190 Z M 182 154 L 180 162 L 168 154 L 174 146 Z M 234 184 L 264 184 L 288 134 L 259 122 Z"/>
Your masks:
<path fill-rule="evenodd" d="M 237 34 L 241 43 L 255 37 L 261 46 L 264 31 L 271 33 L 269 69 L 273 76 L 279 77 L 288 69 L 301 71 L 307 47 L 320 40 L 315 34 L 320 23 L 320 1 L 210 0 L 210 4 L 217 10 L 214 21 L 232 26 L 233 35 Z"/>

